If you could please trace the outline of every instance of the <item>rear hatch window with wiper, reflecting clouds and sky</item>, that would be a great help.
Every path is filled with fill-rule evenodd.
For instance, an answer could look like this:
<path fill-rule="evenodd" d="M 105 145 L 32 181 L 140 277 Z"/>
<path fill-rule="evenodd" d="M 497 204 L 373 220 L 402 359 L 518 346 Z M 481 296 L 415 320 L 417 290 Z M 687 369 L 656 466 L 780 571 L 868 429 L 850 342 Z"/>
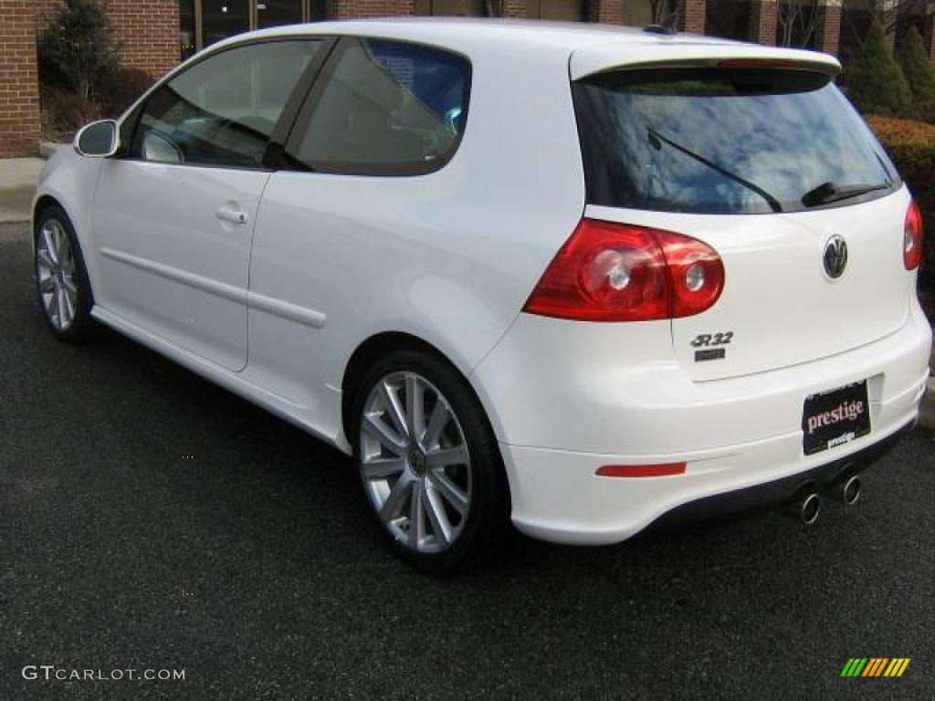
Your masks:
<path fill-rule="evenodd" d="M 588 201 L 758 214 L 853 204 L 899 176 L 827 76 L 701 68 L 573 84 Z"/>

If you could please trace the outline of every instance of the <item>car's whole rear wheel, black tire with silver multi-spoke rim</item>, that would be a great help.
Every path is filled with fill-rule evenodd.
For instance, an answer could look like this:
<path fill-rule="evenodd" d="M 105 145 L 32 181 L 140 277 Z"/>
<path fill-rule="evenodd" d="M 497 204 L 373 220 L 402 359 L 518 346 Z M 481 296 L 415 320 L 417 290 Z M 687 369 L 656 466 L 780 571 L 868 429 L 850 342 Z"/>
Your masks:
<path fill-rule="evenodd" d="M 442 572 L 490 549 L 506 485 L 464 379 L 431 354 L 397 352 L 367 373 L 353 415 L 364 492 L 399 554 Z"/>

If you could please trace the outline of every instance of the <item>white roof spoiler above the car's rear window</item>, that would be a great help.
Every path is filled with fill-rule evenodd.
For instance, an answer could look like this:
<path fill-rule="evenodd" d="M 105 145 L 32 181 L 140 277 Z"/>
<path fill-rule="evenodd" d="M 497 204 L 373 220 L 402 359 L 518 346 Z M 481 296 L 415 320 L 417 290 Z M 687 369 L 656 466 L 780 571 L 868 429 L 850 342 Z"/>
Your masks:
<path fill-rule="evenodd" d="M 621 68 L 748 66 L 808 70 L 831 78 L 841 73 L 838 59 L 827 53 L 726 42 L 692 43 L 690 40 L 661 45 L 613 43 L 587 47 L 571 54 L 568 70 L 572 80 L 580 80 Z"/>

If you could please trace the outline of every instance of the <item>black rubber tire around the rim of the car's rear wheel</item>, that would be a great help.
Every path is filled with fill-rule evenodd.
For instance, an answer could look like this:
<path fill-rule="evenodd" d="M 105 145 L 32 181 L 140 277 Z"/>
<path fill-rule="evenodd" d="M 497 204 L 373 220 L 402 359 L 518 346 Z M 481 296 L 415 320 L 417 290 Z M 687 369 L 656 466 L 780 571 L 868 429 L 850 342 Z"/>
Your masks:
<path fill-rule="evenodd" d="M 390 527 L 382 522 L 377 513 L 377 505 L 367 491 L 367 479 L 362 465 L 364 438 L 361 433 L 367 400 L 378 382 L 398 373 L 414 373 L 421 376 L 434 386 L 432 389 L 437 389 L 443 395 L 460 425 L 458 433 L 463 435 L 470 456 L 467 516 L 462 517 L 463 527 L 460 528 L 453 544 L 438 552 L 413 550 L 410 545 L 399 539 L 398 533 L 394 536 Z M 417 349 L 395 350 L 367 371 L 354 394 L 351 417 L 352 425 L 348 436 L 352 442 L 354 464 L 362 491 L 378 527 L 397 555 L 425 572 L 444 574 L 477 563 L 496 551 L 502 539 L 510 532 L 509 486 L 493 429 L 487 421 L 480 401 L 460 373 L 433 353 Z M 427 416 L 425 422 L 428 422 Z"/>

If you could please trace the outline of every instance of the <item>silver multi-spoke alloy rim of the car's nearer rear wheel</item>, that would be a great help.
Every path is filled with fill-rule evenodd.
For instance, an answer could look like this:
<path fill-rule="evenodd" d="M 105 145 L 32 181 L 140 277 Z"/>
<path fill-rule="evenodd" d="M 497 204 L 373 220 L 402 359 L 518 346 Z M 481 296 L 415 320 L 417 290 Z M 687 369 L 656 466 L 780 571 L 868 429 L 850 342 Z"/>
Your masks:
<path fill-rule="evenodd" d="M 464 531 L 468 444 L 449 401 L 421 375 L 391 373 L 367 395 L 360 470 L 383 527 L 411 551 L 446 551 Z"/>

